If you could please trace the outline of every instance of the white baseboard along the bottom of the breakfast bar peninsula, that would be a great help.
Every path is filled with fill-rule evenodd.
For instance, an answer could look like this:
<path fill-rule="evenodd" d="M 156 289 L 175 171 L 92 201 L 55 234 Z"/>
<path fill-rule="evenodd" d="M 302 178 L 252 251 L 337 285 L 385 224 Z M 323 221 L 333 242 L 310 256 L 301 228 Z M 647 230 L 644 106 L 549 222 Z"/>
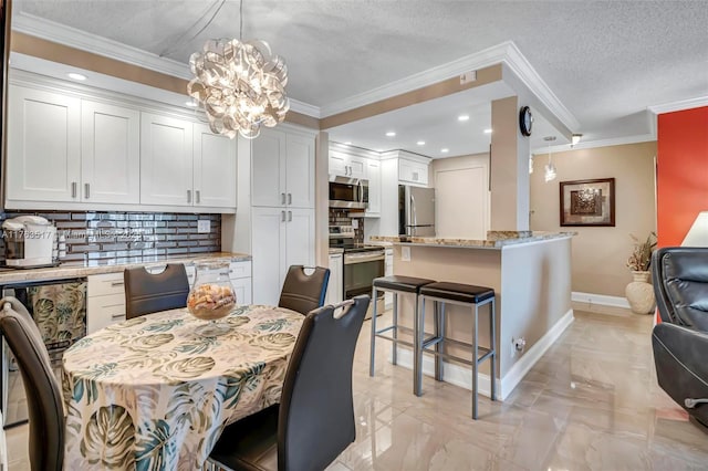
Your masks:
<path fill-rule="evenodd" d="M 574 321 L 573 310 L 568 311 L 549 332 L 545 333 L 539 342 L 533 344 L 531 348 L 517 362 L 509 373 L 501 380 L 497 379 L 497 399 L 506 399 L 524 375 L 535 365 L 543 356 L 545 350 L 561 336 L 561 334 Z M 413 369 L 413 350 L 398 346 L 396 348 L 398 355 L 398 365 L 408 369 Z M 391 354 L 388 354 L 391 362 Z M 458 364 L 444 362 L 445 381 L 465 389 L 472 389 L 472 370 Z M 426 376 L 435 376 L 435 359 L 429 355 L 423 356 L 423 374 Z M 477 378 L 479 394 L 489 397 L 491 395 L 491 380 L 489 375 L 479 374 Z"/>

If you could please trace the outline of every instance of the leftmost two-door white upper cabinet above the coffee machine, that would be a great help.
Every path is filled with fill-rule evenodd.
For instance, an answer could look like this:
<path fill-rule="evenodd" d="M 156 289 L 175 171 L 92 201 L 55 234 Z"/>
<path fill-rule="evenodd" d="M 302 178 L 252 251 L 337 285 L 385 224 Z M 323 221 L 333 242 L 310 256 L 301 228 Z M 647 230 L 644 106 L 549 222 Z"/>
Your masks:
<path fill-rule="evenodd" d="M 8 199 L 138 203 L 139 112 L 11 86 Z"/>

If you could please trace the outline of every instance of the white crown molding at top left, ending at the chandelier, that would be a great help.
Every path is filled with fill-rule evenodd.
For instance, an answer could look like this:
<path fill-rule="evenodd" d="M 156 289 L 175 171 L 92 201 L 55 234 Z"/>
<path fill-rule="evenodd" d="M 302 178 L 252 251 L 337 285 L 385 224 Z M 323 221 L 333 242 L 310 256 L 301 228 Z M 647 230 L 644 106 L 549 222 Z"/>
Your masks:
<path fill-rule="evenodd" d="M 70 48 L 115 59 L 155 72 L 185 80 L 191 78 L 191 72 L 187 64 L 173 61 L 171 59 L 160 57 L 137 48 L 44 20 L 33 14 L 24 12 L 14 14 L 12 17 L 12 29 L 35 38 L 58 42 Z"/>

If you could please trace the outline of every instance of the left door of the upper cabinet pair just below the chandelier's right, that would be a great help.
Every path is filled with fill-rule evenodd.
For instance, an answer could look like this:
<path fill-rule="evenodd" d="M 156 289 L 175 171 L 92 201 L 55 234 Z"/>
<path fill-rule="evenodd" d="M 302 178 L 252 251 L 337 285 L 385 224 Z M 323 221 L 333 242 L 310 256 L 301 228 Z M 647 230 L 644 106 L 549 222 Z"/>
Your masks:
<path fill-rule="evenodd" d="M 251 203 L 285 205 L 285 133 L 261 129 L 260 136 L 253 139 L 251 145 Z"/>

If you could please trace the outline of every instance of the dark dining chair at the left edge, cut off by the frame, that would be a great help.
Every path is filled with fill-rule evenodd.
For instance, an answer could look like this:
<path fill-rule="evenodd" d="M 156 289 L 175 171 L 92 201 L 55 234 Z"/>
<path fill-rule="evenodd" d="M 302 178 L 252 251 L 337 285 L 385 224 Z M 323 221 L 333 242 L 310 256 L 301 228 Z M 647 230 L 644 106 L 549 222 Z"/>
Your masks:
<path fill-rule="evenodd" d="M 64 462 L 64 410 L 59 381 L 27 308 L 14 297 L 0 300 L 0 333 L 14 355 L 27 395 L 32 471 L 60 471 Z"/>

